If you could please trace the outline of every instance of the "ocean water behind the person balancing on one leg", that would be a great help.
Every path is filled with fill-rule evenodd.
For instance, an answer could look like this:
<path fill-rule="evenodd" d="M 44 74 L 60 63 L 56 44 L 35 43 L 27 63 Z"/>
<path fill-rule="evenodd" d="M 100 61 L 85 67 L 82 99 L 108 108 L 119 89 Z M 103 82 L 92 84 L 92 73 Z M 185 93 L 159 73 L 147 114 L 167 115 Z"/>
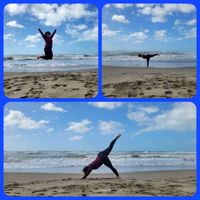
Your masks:
<path fill-rule="evenodd" d="M 146 60 L 138 57 L 139 53 L 155 54 L 150 60 L 150 67 L 155 68 L 181 68 L 196 67 L 196 53 L 194 52 L 123 52 L 104 51 L 104 66 L 146 67 Z"/>

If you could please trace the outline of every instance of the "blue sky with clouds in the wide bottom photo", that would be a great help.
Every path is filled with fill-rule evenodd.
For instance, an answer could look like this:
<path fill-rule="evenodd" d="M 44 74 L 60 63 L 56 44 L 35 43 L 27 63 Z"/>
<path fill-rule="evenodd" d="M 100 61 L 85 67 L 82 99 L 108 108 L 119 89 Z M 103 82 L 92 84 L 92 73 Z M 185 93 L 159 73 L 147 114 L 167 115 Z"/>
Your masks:
<path fill-rule="evenodd" d="M 9 103 L 5 150 L 195 151 L 192 103 Z"/>

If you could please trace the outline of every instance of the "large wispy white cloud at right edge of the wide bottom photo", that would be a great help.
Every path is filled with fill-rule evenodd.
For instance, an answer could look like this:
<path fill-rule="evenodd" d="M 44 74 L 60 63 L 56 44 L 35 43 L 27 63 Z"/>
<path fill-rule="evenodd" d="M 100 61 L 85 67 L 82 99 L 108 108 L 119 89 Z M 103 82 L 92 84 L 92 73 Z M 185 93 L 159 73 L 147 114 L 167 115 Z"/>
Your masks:
<path fill-rule="evenodd" d="M 146 115 L 148 124 L 136 134 L 155 131 L 186 133 L 196 128 L 196 108 L 192 103 L 175 103 L 173 108 L 154 116 Z"/>

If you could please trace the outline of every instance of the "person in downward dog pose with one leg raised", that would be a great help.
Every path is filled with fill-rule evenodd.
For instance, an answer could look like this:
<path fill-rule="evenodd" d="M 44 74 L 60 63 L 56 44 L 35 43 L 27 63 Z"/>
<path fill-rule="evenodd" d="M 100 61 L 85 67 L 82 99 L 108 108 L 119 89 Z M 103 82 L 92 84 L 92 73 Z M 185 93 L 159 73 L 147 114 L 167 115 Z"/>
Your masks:
<path fill-rule="evenodd" d="M 110 154 L 110 152 L 112 151 L 112 148 L 115 144 L 115 142 L 117 141 L 117 139 L 121 136 L 121 134 L 117 135 L 115 137 L 115 139 L 110 143 L 109 147 L 106 148 L 105 150 L 101 151 L 98 153 L 96 159 L 91 162 L 88 166 L 83 168 L 83 172 L 84 172 L 84 176 L 82 179 L 85 179 L 93 169 L 98 169 L 99 167 L 101 167 L 101 165 L 105 165 L 107 167 L 109 167 L 113 173 L 119 177 L 119 174 L 117 172 L 117 170 L 113 167 L 110 159 L 108 158 L 108 155 Z"/>

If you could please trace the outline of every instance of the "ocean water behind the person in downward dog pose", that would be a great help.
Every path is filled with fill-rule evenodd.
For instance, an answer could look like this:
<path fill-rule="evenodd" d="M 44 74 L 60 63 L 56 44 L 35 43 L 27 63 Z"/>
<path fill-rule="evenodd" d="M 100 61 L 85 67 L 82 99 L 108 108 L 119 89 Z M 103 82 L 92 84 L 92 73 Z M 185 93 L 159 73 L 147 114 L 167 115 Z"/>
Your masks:
<path fill-rule="evenodd" d="M 5 172 L 81 173 L 98 152 L 5 151 Z M 196 169 L 194 152 L 112 152 L 109 156 L 119 172 Z M 105 166 L 94 173 L 110 173 Z"/>

